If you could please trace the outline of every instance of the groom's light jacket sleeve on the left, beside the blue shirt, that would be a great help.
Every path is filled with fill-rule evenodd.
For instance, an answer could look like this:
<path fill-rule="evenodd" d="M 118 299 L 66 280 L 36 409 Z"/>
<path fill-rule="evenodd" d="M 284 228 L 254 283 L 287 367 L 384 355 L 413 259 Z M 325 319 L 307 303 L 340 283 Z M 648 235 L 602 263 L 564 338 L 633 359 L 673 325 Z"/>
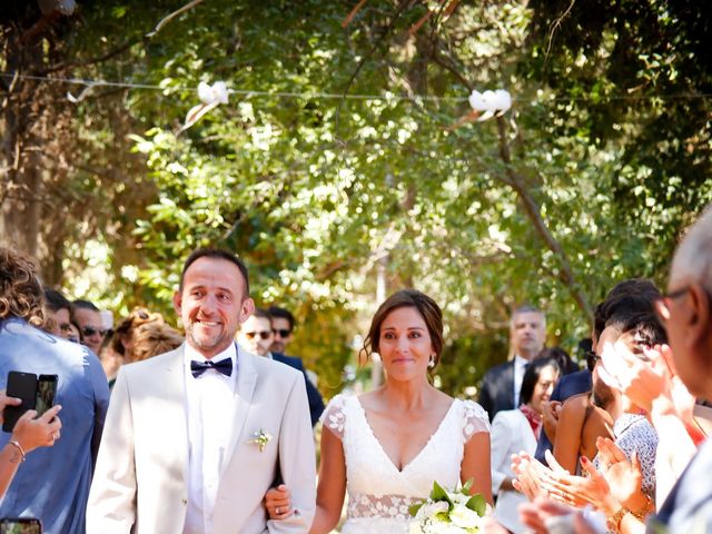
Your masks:
<path fill-rule="evenodd" d="M 119 370 L 107 413 L 87 505 L 88 534 L 129 534 L 136 522 L 134 417 L 126 374 Z"/>

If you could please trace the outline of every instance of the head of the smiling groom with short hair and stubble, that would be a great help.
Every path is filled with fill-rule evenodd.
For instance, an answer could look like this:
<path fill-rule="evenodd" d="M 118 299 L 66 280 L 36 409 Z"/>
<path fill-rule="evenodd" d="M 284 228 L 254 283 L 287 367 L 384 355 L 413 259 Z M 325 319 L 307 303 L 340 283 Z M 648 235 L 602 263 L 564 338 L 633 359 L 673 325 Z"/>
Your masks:
<path fill-rule="evenodd" d="M 245 298 L 239 268 L 222 258 L 201 257 L 184 275 L 174 305 L 186 328 L 186 342 L 206 358 L 225 350 L 255 308 Z"/>

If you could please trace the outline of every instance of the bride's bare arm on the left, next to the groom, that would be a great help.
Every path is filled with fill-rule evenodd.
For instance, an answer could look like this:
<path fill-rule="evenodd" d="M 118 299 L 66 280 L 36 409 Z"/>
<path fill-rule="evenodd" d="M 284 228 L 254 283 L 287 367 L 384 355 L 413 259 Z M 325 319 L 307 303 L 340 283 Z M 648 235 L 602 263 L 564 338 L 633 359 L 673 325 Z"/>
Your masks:
<path fill-rule="evenodd" d="M 309 534 L 332 532 L 342 517 L 346 494 L 346 459 L 342 441 L 327 425 L 322 429 L 322 462 L 316 491 L 316 515 Z"/>

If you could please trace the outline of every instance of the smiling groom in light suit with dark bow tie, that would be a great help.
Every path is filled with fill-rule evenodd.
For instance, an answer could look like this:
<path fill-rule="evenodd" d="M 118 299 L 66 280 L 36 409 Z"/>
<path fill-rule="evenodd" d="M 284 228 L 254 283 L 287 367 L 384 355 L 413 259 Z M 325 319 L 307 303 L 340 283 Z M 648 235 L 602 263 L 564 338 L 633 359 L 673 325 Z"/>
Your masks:
<path fill-rule="evenodd" d="M 307 532 L 315 455 L 304 377 L 234 342 L 255 307 L 231 253 L 186 260 L 174 305 L 176 350 L 119 372 L 87 511 L 89 534 Z M 281 476 L 298 513 L 267 521 Z"/>

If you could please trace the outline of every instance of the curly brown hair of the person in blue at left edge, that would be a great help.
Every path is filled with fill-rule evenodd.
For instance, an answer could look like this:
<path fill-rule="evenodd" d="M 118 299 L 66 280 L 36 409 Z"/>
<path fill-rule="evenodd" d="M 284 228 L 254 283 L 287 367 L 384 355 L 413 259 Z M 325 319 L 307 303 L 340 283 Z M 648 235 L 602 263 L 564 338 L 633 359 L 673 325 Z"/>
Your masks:
<path fill-rule="evenodd" d="M 43 327 L 44 293 L 28 258 L 0 247 L 0 320 L 19 317 Z"/>

